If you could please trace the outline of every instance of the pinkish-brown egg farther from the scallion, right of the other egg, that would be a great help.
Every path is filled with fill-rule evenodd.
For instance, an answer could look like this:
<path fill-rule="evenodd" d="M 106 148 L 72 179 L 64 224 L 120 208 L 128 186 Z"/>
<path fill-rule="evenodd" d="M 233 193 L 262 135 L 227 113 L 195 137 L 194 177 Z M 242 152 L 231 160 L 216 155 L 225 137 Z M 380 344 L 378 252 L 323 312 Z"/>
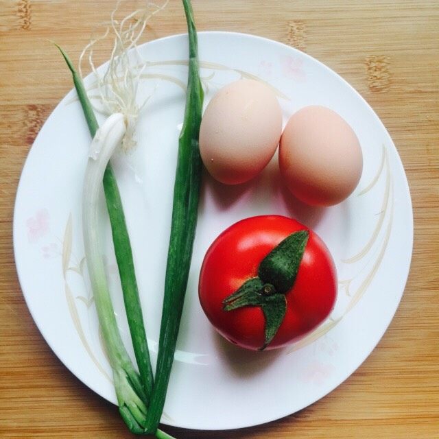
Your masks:
<path fill-rule="evenodd" d="M 363 156 L 355 132 L 335 111 L 307 106 L 290 117 L 279 146 L 283 182 L 307 204 L 330 206 L 357 187 Z"/>

